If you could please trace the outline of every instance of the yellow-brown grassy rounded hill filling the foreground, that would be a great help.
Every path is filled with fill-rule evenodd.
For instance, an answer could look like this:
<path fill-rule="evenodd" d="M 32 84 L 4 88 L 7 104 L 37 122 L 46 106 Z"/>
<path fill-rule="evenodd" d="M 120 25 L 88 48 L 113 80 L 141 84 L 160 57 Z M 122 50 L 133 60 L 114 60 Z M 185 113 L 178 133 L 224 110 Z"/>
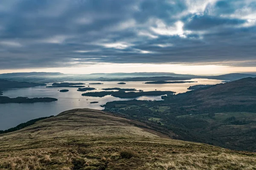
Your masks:
<path fill-rule="evenodd" d="M 174 135 L 174 134 L 173 134 Z M 0 135 L 1 170 L 253 170 L 256 153 L 169 139 L 141 122 L 74 109 Z"/>

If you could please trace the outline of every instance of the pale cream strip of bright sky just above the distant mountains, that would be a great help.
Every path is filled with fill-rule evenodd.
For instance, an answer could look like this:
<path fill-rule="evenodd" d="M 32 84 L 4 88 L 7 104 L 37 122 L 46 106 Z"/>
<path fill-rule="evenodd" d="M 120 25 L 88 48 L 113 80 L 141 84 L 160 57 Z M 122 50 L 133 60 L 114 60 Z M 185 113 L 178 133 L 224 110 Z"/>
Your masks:
<path fill-rule="evenodd" d="M 228 73 L 256 73 L 255 67 L 230 67 L 220 65 L 170 65 L 170 64 L 98 64 L 87 67 L 69 68 L 31 68 L 17 70 L 0 70 L 1 73 L 14 72 L 61 72 L 64 74 L 91 73 L 131 73 L 131 72 L 172 72 L 176 74 L 213 75 Z"/>

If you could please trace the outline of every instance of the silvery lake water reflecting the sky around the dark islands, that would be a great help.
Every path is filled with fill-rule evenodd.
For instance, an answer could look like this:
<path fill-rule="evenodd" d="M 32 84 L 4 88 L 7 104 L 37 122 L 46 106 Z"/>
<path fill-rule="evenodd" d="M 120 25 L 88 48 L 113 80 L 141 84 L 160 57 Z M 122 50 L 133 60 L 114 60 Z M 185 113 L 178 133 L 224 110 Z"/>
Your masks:
<path fill-rule="evenodd" d="M 90 91 L 102 91 L 102 88 L 136 88 L 143 91 L 175 91 L 177 93 L 183 93 L 187 91 L 187 88 L 191 85 L 209 85 L 221 83 L 221 80 L 212 79 L 192 79 L 197 81 L 193 83 L 181 83 L 181 84 L 144 84 L 144 82 L 125 82 L 125 85 L 119 85 L 118 82 L 103 82 L 103 85 L 89 85 L 94 81 L 80 81 L 96 88 L 96 90 Z M 48 85 L 51 85 L 49 83 Z M 61 93 L 58 90 L 68 89 L 68 92 Z M 67 111 L 73 108 L 92 108 L 103 109 L 100 105 L 104 105 L 106 102 L 116 100 L 128 100 L 119 99 L 113 96 L 104 97 L 88 97 L 81 96 L 86 92 L 77 91 L 78 88 L 46 88 L 45 86 L 38 86 L 33 88 L 11 89 L 3 91 L 3 96 L 17 97 L 26 96 L 33 97 L 53 97 L 57 98 L 56 102 L 42 102 L 42 103 L 8 103 L 0 104 L 0 130 L 5 130 L 10 127 L 14 127 L 20 123 L 36 119 L 44 116 L 57 115 L 62 111 Z M 88 91 L 87 91 L 88 92 Z M 131 98 L 129 98 L 131 99 Z M 138 100 L 160 100 L 161 96 L 140 96 Z M 90 102 L 99 102 L 91 104 Z"/>

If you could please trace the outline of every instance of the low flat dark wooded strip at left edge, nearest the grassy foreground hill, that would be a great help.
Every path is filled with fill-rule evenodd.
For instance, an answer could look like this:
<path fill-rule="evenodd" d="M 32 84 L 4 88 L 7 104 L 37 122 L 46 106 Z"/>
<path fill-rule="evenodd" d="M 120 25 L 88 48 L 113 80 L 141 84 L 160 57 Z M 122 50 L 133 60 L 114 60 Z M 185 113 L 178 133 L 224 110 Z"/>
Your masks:
<path fill-rule="evenodd" d="M 43 97 L 43 98 L 28 98 L 28 97 L 16 97 L 9 98 L 7 96 L 0 96 L 0 103 L 35 103 L 35 102 L 54 102 L 58 99 L 51 97 Z"/>

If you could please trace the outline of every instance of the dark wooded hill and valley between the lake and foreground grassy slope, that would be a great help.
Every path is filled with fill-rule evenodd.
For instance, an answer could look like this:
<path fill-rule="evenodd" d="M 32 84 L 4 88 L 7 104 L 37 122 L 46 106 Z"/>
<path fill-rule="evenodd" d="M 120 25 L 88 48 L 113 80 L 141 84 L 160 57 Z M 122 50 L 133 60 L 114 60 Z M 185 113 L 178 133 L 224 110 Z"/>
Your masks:
<path fill-rule="evenodd" d="M 256 152 L 256 78 L 162 96 L 108 102 L 105 111 L 172 130 L 176 139 Z"/>

